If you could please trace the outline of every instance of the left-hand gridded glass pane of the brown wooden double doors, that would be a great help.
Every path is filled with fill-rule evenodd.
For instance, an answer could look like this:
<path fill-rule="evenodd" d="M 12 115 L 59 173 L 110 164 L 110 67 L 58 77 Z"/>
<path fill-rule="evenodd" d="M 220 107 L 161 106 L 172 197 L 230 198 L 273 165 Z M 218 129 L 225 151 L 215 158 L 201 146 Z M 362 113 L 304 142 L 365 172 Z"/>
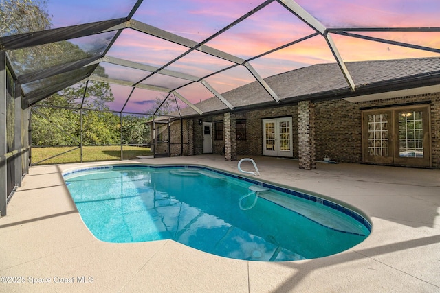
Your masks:
<path fill-rule="evenodd" d="M 388 114 L 368 115 L 369 156 L 388 156 Z"/>

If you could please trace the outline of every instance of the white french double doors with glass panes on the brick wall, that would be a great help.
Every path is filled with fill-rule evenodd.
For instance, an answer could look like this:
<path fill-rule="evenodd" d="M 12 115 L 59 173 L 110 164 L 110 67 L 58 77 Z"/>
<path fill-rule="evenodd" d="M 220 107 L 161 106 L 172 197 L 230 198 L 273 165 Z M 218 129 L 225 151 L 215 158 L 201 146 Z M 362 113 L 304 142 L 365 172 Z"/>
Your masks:
<path fill-rule="evenodd" d="M 292 150 L 292 117 L 263 119 L 263 155 L 294 155 Z"/>

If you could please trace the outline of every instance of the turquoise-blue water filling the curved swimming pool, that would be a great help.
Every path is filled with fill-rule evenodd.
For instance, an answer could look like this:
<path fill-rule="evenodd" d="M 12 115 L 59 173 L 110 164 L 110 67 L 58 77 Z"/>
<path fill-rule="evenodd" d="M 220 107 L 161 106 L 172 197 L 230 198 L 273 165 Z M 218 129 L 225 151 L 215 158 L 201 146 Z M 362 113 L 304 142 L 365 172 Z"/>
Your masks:
<path fill-rule="evenodd" d="M 63 176 L 105 242 L 173 239 L 223 257 L 289 261 L 340 253 L 371 231 L 329 200 L 206 167 L 114 165 Z"/>

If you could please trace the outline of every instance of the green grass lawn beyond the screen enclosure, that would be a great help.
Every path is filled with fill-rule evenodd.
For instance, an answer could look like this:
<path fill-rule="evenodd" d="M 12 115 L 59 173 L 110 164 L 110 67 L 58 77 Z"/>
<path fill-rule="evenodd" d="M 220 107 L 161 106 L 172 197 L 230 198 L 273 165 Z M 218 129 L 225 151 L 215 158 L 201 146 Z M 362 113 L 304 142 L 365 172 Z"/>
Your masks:
<path fill-rule="evenodd" d="M 79 163 L 80 162 L 80 149 L 74 150 L 76 147 L 52 147 L 52 148 L 32 148 L 32 164 L 37 163 L 43 159 L 50 158 L 56 154 L 61 154 L 68 150 L 61 156 L 56 156 L 53 159 L 43 161 L 39 165 L 47 164 L 61 164 L 61 163 Z M 150 148 L 142 148 L 135 146 L 124 146 L 123 157 L 124 159 L 136 159 L 136 156 L 151 156 Z M 108 160 L 120 160 L 121 159 L 121 147 L 119 145 L 111 146 L 85 146 L 83 147 L 83 162 L 93 161 L 108 161 Z"/>

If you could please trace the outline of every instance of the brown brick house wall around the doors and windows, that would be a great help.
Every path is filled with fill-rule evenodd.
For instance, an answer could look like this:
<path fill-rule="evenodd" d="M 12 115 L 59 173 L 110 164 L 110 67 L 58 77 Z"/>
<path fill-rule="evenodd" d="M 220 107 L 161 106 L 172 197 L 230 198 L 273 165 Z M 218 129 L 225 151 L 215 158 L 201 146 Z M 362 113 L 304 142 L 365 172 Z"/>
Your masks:
<path fill-rule="evenodd" d="M 365 107 L 396 106 L 431 101 L 430 136 L 432 167 L 440 169 L 440 93 L 412 95 L 369 102 L 348 102 L 343 99 L 314 102 L 315 154 L 321 161 L 327 154 L 332 160 L 346 163 L 362 163 L 362 110 Z M 292 117 L 293 158 L 298 159 L 298 105 L 275 106 L 259 110 L 235 112 L 236 119 L 246 120 L 246 140 L 236 141 L 236 154 L 261 156 L 263 154 L 262 119 Z M 202 154 L 202 121 L 223 121 L 223 115 L 196 117 L 190 119 L 193 128 L 187 128 L 192 135 L 193 151 L 184 154 Z M 214 125 L 213 125 L 214 129 Z M 223 132 L 224 133 L 224 132 Z M 188 144 L 189 145 L 189 144 Z M 223 154 L 224 139 L 213 141 L 214 154 Z"/>

